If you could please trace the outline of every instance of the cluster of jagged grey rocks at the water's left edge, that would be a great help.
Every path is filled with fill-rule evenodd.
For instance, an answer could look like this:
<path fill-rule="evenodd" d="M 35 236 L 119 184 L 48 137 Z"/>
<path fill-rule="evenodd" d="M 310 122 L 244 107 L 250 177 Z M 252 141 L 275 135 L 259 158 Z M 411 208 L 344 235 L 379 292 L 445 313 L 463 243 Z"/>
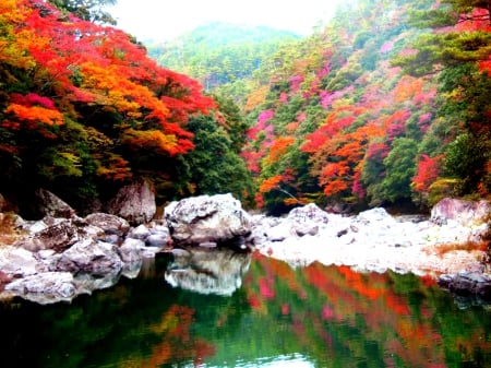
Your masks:
<path fill-rule="evenodd" d="M 0 248 L 3 296 L 39 304 L 112 286 L 121 275 L 135 277 L 143 258 L 154 257 L 169 236 L 166 226 L 132 228 L 107 213 L 17 224 L 25 235 Z"/>

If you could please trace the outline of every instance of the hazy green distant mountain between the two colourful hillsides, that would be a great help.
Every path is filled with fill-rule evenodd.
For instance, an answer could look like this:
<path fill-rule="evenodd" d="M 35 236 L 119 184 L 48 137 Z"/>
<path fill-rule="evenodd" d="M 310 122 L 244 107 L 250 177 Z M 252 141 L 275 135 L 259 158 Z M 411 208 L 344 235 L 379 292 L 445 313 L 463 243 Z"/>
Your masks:
<path fill-rule="evenodd" d="M 213 22 L 169 41 L 147 41 L 148 56 L 197 79 L 207 90 L 252 74 L 262 60 L 301 36 L 268 26 Z"/>

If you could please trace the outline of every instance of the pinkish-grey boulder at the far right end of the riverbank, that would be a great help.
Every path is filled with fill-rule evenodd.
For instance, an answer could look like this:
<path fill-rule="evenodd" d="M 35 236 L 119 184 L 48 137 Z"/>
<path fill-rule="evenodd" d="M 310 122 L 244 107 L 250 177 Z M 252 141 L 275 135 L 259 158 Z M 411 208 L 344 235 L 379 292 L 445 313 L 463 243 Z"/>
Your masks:
<path fill-rule="evenodd" d="M 453 219 L 463 226 L 481 225 L 491 214 L 491 203 L 488 201 L 464 201 L 444 198 L 431 209 L 430 219 L 435 224 L 446 224 Z"/>

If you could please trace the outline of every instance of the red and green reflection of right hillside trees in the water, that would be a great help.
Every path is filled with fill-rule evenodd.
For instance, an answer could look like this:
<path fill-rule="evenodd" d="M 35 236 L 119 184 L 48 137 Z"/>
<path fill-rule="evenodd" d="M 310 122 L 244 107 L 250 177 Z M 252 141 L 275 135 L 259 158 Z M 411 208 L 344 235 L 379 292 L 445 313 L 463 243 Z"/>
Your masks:
<path fill-rule="evenodd" d="M 454 330 L 456 307 L 448 310 L 452 301 L 441 296 L 435 304 L 430 278 L 320 263 L 292 269 L 262 258 L 252 265 L 246 286 L 253 311 L 261 320 L 283 316 L 282 333 L 295 335 L 291 344 L 314 352 L 320 365 L 446 367 L 460 351 L 491 348 L 481 340 L 484 327 Z"/>

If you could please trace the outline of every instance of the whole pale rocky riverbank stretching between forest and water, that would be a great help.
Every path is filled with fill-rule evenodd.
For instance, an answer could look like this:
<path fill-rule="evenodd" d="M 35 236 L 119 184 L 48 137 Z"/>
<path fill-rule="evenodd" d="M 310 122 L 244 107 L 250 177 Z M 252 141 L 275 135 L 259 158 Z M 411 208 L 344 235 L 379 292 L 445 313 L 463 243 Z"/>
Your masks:
<path fill-rule="evenodd" d="M 11 216 L 16 236 L 0 246 L 1 297 L 69 301 L 121 276 L 135 277 L 142 261 L 157 252 L 173 251 L 178 259 L 179 248 L 226 247 L 258 251 L 291 266 L 321 262 L 362 272 L 430 275 L 456 294 L 491 299 L 491 276 L 482 262 L 490 213 L 484 201 L 446 199 L 428 218 L 392 216 L 384 209 L 346 216 L 315 204 L 268 217 L 248 214 L 230 194 L 203 195 L 170 203 L 165 218 L 144 224 L 134 214 L 131 223 L 108 213 L 79 217 L 63 206 L 58 203 L 52 213 L 64 217 L 51 213 L 35 222 L 2 214 Z M 189 283 L 179 272 L 168 276 L 177 285 Z M 230 281 L 227 285 L 236 283 Z"/>

